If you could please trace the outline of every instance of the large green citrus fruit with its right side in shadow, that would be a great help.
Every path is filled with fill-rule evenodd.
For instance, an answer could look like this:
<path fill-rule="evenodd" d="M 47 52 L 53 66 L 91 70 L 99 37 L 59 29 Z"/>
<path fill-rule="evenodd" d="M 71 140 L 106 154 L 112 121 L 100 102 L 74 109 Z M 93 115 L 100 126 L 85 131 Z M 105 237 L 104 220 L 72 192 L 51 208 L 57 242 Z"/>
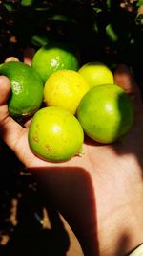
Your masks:
<path fill-rule="evenodd" d="M 119 86 L 94 86 L 81 100 L 77 118 L 85 133 L 100 143 L 112 143 L 133 126 L 133 105 Z"/>

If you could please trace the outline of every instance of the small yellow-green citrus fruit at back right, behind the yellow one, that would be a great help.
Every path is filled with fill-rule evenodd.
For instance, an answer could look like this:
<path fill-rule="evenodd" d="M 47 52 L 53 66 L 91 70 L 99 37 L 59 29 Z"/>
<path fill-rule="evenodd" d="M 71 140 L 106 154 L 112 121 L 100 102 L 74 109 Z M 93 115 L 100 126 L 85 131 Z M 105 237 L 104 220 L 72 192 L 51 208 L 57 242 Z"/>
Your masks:
<path fill-rule="evenodd" d="M 88 62 L 81 66 L 78 72 L 89 83 L 91 88 L 95 85 L 113 83 L 111 69 L 102 62 Z"/>

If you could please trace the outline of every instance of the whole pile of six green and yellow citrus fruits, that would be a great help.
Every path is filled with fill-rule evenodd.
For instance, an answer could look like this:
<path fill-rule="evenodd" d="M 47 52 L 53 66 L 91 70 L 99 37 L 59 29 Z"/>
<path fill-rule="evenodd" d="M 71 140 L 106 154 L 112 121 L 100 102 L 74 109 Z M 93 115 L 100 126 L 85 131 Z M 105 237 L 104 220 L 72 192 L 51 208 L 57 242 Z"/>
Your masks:
<path fill-rule="evenodd" d="M 102 62 L 81 65 L 76 49 L 51 43 L 35 52 L 31 66 L 0 65 L 10 78 L 9 111 L 13 118 L 32 116 L 29 145 L 38 157 L 65 161 L 82 153 L 84 134 L 113 143 L 133 126 L 133 105 Z"/>

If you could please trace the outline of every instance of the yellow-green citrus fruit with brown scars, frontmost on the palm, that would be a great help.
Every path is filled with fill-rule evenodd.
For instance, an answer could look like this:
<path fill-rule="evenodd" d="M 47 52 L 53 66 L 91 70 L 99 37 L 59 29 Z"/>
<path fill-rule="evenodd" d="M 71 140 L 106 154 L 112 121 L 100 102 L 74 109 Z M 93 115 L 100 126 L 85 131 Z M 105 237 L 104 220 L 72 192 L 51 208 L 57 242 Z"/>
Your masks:
<path fill-rule="evenodd" d="M 47 161 L 66 161 L 82 150 L 84 132 L 71 112 L 56 106 L 39 109 L 29 129 L 31 151 Z"/>

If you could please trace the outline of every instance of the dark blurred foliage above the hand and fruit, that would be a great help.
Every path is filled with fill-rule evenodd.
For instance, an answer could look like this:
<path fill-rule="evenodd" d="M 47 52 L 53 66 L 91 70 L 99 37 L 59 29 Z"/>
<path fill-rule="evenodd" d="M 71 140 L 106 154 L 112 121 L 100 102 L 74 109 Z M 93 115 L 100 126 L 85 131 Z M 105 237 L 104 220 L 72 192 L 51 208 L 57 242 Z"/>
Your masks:
<path fill-rule="evenodd" d="M 3 0 L 0 13 L 1 58 L 55 39 L 74 43 L 84 62 L 142 60 L 142 0 Z"/>

